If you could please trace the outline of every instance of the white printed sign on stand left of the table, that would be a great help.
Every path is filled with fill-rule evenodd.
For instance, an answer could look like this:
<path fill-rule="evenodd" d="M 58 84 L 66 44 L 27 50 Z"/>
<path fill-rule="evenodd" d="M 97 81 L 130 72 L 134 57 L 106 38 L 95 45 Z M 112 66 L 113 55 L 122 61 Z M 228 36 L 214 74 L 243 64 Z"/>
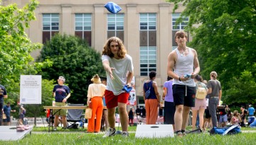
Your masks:
<path fill-rule="evenodd" d="M 20 103 L 41 104 L 42 102 L 42 76 L 21 75 Z"/>

